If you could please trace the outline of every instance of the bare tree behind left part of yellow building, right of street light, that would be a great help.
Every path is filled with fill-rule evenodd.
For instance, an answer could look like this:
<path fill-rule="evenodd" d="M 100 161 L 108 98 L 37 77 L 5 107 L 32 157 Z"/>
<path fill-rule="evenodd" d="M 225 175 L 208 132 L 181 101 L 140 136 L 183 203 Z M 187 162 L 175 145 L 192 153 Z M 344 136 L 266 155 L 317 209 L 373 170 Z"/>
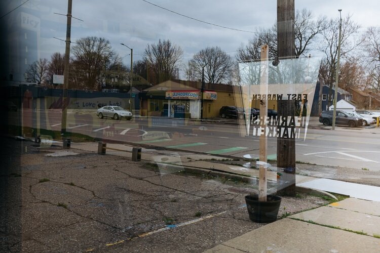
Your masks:
<path fill-rule="evenodd" d="M 155 74 L 155 80 L 150 81 L 157 84 L 176 76 L 182 54 L 182 49 L 173 45 L 170 40 L 160 39 L 157 44 L 147 45 L 143 60 Z"/>

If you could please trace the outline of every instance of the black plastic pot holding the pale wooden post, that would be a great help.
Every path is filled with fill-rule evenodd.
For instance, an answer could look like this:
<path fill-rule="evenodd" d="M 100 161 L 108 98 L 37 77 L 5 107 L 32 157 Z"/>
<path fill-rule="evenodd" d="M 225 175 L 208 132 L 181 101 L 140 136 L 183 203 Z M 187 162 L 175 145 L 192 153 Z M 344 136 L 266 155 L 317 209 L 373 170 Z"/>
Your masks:
<path fill-rule="evenodd" d="M 281 197 L 268 195 L 267 201 L 258 201 L 258 195 L 245 196 L 249 219 L 257 223 L 271 223 L 277 220 Z"/>

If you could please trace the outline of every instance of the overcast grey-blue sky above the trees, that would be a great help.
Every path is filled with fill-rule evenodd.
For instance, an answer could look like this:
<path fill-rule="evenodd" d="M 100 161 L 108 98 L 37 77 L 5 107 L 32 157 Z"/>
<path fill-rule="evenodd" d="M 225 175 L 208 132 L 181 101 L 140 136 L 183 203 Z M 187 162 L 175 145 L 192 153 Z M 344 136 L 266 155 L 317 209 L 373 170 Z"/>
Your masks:
<path fill-rule="evenodd" d="M 11 10 L 25 0 L 12 1 Z M 142 0 L 72 0 L 71 41 L 84 36 L 102 36 L 109 39 L 112 48 L 130 63 L 129 49 L 133 48 L 133 59 L 141 59 L 147 44 L 161 39 L 170 39 L 182 47 L 185 64 L 192 55 L 208 46 L 219 46 L 232 57 L 241 44 L 247 44 L 253 33 L 234 31 L 188 19 L 150 5 Z M 231 28 L 255 31 L 259 27 L 270 27 L 276 21 L 277 1 L 255 0 L 149 0 L 149 2 L 180 14 Z M 50 58 L 54 52 L 64 53 L 66 17 L 54 14 L 67 13 L 67 1 L 30 0 L 23 8 L 41 13 L 40 56 Z M 326 15 L 338 17 L 353 15 L 364 30 L 369 26 L 380 26 L 377 0 L 296 0 L 295 9 L 312 10 L 315 18 Z M 5 12 L 3 10 L 2 12 Z"/>

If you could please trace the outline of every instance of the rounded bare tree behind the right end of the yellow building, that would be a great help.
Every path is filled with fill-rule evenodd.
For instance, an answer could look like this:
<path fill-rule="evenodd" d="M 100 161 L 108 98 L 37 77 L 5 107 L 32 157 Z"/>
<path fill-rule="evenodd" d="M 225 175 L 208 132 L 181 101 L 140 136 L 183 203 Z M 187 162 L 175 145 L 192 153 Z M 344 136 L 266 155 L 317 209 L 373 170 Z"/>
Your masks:
<path fill-rule="evenodd" d="M 207 65 L 206 65 L 207 64 Z M 195 79 L 202 79 L 205 66 L 205 82 L 228 82 L 231 78 L 232 58 L 219 47 L 202 49 L 188 62 L 186 73 L 192 73 Z"/>

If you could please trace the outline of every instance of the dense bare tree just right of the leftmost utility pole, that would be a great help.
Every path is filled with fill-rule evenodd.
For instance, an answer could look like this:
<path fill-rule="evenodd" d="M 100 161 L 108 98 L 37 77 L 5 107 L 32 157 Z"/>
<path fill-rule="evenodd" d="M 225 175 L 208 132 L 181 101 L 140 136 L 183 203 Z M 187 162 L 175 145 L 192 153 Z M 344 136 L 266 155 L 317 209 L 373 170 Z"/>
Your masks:
<path fill-rule="evenodd" d="M 121 58 L 111 48 L 109 41 L 99 37 L 85 37 L 72 47 L 72 86 L 100 90 L 105 85 L 107 71 L 121 65 Z M 75 71 L 75 73 L 74 73 Z"/>

